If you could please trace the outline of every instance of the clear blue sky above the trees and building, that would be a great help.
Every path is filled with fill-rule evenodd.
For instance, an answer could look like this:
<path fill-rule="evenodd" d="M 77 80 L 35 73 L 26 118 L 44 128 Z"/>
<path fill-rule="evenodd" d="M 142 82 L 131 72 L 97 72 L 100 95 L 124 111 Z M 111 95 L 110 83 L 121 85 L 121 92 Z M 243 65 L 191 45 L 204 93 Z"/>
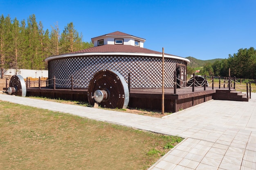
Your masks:
<path fill-rule="evenodd" d="M 256 0 L 1 0 L 0 14 L 35 14 L 49 31 L 73 22 L 85 42 L 121 31 L 146 39 L 144 48 L 200 60 L 256 48 Z"/>

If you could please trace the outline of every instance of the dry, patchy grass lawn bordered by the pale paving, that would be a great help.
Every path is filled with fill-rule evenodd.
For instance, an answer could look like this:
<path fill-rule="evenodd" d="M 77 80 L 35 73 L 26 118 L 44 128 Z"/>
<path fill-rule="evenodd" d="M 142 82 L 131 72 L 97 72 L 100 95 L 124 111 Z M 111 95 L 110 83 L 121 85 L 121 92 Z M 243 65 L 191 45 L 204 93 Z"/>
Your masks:
<path fill-rule="evenodd" d="M 180 137 L 0 101 L 1 170 L 145 170 Z"/>

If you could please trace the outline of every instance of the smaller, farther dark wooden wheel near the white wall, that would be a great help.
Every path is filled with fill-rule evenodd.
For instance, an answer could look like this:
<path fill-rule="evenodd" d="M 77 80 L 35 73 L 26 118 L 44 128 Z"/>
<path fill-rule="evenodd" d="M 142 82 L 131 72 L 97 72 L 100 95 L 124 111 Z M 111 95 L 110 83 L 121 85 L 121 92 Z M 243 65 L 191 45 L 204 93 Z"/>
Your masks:
<path fill-rule="evenodd" d="M 26 97 L 27 88 L 21 75 L 13 75 L 11 77 L 7 92 L 9 95 Z"/>

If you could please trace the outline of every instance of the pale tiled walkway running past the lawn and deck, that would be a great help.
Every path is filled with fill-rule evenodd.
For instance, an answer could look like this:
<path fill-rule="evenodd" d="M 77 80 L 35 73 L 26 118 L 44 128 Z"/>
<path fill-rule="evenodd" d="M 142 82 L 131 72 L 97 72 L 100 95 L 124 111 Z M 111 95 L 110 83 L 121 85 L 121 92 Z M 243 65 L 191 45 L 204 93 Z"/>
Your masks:
<path fill-rule="evenodd" d="M 0 100 L 186 138 L 149 170 L 256 169 L 256 93 L 249 102 L 212 100 L 164 118 L 5 94 Z"/>

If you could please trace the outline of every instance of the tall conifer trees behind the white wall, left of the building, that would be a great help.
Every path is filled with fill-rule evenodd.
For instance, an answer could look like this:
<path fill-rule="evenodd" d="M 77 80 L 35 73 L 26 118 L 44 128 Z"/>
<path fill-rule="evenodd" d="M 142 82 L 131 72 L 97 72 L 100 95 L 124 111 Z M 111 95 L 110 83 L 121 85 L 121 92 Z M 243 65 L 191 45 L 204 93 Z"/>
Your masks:
<path fill-rule="evenodd" d="M 74 29 L 72 22 L 64 29 L 60 29 L 58 23 L 51 27 L 52 30 L 44 30 L 43 23 L 38 23 L 34 14 L 22 21 L 2 14 L 0 68 L 45 70 L 45 58 L 93 46 L 92 42 L 83 42 L 83 35 Z"/>

